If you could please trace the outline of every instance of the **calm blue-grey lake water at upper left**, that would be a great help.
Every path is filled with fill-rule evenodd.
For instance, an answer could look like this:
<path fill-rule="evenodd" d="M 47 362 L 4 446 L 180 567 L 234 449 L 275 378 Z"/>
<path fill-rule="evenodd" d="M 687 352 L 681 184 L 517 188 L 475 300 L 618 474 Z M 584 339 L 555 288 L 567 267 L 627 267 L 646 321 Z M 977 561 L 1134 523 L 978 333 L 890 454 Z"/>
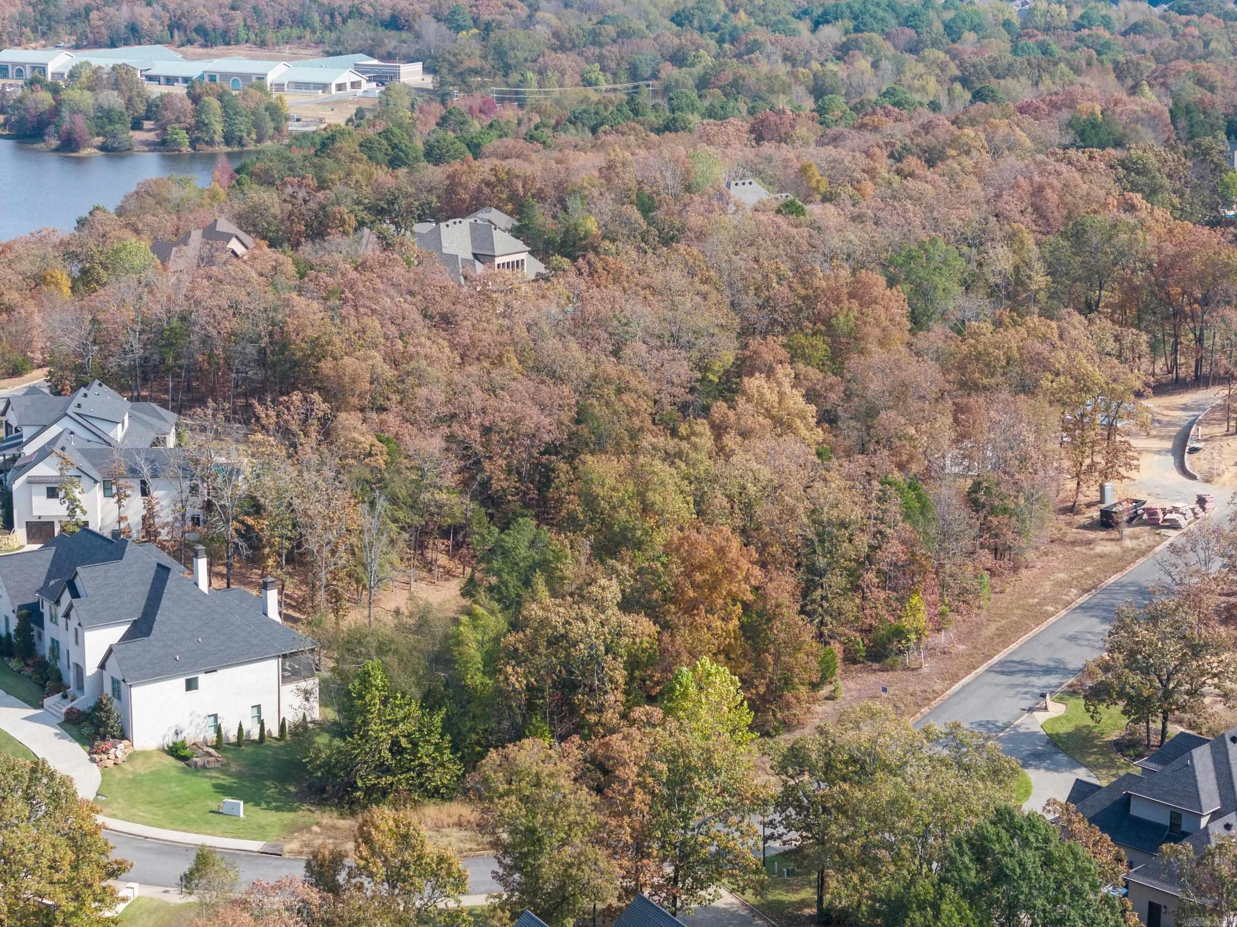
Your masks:
<path fill-rule="evenodd" d="M 57 154 L 32 145 L 0 140 L 0 241 L 51 226 L 73 231 L 94 205 L 115 209 L 120 199 L 151 177 L 187 174 L 210 183 L 216 153 Z M 246 152 L 228 152 L 236 164 Z"/>

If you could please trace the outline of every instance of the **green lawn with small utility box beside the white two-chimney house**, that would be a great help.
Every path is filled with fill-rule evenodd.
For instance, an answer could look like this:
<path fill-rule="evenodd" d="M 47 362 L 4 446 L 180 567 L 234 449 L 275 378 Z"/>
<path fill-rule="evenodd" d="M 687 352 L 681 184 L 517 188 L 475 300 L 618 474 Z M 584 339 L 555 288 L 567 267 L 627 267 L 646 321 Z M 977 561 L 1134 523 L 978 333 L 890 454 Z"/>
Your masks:
<path fill-rule="evenodd" d="M 139 750 L 101 775 L 104 815 L 172 831 L 280 840 L 333 816 L 298 795 L 304 768 L 296 747 L 280 740 L 224 747 L 220 769 L 194 770 L 162 750 Z M 216 812 L 224 798 L 244 801 L 245 817 Z"/>

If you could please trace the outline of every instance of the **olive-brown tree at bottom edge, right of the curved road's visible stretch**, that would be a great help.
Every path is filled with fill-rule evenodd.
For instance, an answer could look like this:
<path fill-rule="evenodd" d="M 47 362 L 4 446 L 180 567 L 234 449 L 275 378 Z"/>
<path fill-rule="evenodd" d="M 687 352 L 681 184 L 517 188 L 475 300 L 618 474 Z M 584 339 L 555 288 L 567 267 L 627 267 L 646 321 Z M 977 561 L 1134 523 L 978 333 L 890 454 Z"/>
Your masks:
<path fill-rule="evenodd" d="M 477 765 L 481 829 L 497 857 L 497 907 L 506 920 L 527 908 L 549 927 L 571 927 L 615 899 L 617 873 L 601 845 L 597 798 L 581 777 L 574 748 L 539 738 L 492 750 Z"/>

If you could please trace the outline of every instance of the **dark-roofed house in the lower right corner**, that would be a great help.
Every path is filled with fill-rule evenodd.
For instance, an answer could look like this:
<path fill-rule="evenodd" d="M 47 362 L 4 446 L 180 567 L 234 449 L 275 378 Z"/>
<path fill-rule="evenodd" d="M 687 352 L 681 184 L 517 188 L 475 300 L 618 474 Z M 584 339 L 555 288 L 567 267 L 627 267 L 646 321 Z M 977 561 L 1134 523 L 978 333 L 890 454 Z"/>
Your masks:
<path fill-rule="evenodd" d="M 1237 728 L 1215 739 L 1180 733 L 1106 786 L 1074 781 L 1069 802 L 1124 850 L 1129 902 L 1147 927 L 1173 927 L 1181 884 L 1159 849 L 1196 853 L 1237 836 Z"/>

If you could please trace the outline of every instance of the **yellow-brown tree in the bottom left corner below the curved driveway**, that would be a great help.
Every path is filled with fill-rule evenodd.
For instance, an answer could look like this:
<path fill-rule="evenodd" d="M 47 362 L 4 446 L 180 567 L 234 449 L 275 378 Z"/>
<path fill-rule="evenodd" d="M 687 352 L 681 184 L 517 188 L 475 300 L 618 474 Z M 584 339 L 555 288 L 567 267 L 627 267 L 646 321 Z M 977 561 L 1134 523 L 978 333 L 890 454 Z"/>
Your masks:
<path fill-rule="evenodd" d="M 119 897 L 95 808 L 48 765 L 0 753 L 0 918 L 14 927 L 105 927 Z"/>

